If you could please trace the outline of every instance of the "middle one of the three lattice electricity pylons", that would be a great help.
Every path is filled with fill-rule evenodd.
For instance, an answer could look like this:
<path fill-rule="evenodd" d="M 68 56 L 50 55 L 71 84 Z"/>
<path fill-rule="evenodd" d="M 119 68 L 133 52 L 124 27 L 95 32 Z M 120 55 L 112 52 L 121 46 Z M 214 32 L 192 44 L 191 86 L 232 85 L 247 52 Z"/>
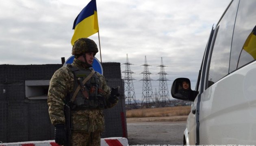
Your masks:
<path fill-rule="evenodd" d="M 141 106 L 143 107 L 143 105 L 145 105 L 147 108 L 151 107 L 153 102 L 154 104 L 154 99 L 152 97 L 153 95 L 153 91 L 152 91 L 152 85 L 151 85 L 151 79 L 150 78 L 150 73 L 148 70 L 148 66 L 150 66 L 147 63 L 147 58 L 145 56 L 145 63 L 141 66 L 144 66 L 144 71 L 141 73 L 143 74 L 143 79 L 141 79 L 140 81 L 143 81 L 143 86 L 142 86 L 142 101 L 141 101 Z"/>

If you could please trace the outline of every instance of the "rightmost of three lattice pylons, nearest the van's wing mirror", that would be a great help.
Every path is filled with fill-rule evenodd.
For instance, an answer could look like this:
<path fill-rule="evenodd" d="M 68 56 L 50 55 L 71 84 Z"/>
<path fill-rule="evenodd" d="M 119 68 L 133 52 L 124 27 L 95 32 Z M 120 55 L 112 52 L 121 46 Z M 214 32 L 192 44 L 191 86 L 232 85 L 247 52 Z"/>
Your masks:
<path fill-rule="evenodd" d="M 167 105 L 167 102 L 170 102 L 169 99 L 169 91 L 168 91 L 168 85 L 167 85 L 167 81 L 169 81 L 169 79 L 166 79 L 166 75 L 167 73 L 165 73 L 165 65 L 163 65 L 163 58 L 161 57 L 161 65 L 158 66 L 160 67 L 160 72 L 158 73 L 160 75 L 159 79 L 157 81 L 159 81 L 159 101 L 162 101 L 162 106 L 165 107 Z"/>

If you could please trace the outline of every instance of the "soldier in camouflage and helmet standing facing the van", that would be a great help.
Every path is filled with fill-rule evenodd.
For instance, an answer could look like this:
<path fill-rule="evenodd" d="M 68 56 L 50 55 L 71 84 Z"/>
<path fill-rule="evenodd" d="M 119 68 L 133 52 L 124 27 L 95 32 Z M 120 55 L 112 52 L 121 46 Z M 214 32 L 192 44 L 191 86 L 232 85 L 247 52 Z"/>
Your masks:
<path fill-rule="evenodd" d="M 110 90 L 104 76 L 91 68 L 97 52 L 93 40 L 78 39 L 72 48 L 73 63 L 58 69 L 50 80 L 47 103 L 57 144 L 67 145 L 65 122 L 68 119 L 65 119 L 63 107 L 67 104 L 72 125 L 69 144 L 100 146 L 100 135 L 104 131 L 103 109 L 117 104 L 119 88 Z"/>

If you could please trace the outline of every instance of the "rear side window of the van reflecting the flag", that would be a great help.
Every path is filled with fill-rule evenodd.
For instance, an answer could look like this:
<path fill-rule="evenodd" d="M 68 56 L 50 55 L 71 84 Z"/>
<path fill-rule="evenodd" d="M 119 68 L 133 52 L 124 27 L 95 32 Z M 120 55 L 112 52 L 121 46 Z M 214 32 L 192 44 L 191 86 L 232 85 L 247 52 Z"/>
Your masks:
<path fill-rule="evenodd" d="M 239 3 L 236 25 L 234 27 L 229 72 L 235 71 L 256 59 L 255 6 L 255 0 L 241 0 Z"/>

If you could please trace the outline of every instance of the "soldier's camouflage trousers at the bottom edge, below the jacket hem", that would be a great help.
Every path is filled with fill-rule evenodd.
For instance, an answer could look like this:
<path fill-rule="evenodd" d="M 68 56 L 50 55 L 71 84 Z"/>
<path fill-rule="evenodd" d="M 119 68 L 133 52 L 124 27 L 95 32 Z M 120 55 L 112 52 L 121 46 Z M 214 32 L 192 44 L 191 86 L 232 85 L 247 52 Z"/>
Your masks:
<path fill-rule="evenodd" d="M 91 133 L 72 131 L 72 146 L 100 146 L 100 131 Z"/>

